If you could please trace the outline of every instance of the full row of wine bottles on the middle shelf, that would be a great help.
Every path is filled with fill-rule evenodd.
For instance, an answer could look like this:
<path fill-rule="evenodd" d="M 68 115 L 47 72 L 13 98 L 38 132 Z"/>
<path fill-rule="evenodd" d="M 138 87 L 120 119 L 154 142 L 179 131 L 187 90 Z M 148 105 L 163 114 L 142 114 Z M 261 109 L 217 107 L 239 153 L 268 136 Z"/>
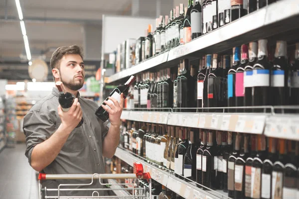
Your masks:
<path fill-rule="evenodd" d="M 286 41 L 277 41 L 270 52 L 268 47 L 268 40 L 261 39 L 234 47 L 232 55 L 210 54 L 196 62 L 183 59 L 177 68 L 139 74 L 126 107 L 299 104 L 299 43 L 295 53 Z"/>

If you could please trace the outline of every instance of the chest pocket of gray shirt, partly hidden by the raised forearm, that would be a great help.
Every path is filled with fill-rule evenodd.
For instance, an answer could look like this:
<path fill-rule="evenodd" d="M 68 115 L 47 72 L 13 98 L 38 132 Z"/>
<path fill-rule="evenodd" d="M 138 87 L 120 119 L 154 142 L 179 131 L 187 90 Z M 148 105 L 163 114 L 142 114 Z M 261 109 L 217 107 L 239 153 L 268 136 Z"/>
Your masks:
<path fill-rule="evenodd" d="M 73 152 L 82 150 L 86 147 L 86 139 L 82 126 L 75 128 L 62 147 L 62 151 Z"/>

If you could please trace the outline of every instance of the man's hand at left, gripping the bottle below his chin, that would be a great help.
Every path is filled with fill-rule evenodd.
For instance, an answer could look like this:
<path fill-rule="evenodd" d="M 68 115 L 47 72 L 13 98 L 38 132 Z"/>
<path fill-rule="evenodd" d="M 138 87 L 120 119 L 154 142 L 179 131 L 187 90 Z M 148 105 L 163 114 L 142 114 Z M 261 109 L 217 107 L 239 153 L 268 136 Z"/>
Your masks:
<path fill-rule="evenodd" d="M 64 128 L 69 129 L 70 132 L 79 124 L 82 119 L 82 114 L 83 113 L 80 103 L 78 102 L 78 98 L 74 100 L 74 103 L 67 112 L 62 110 L 60 104 L 58 106 L 58 115 L 61 119 L 61 124 Z"/>

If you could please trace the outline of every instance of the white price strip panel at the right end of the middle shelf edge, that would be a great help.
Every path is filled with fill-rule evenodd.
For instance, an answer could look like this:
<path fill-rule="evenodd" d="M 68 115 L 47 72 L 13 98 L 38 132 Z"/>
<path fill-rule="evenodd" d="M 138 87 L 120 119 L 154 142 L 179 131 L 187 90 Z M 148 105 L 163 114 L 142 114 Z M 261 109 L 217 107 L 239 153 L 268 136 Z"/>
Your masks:
<path fill-rule="evenodd" d="M 299 115 L 272 115 L 266 120 L 265 135 L 299 141 Z"/>

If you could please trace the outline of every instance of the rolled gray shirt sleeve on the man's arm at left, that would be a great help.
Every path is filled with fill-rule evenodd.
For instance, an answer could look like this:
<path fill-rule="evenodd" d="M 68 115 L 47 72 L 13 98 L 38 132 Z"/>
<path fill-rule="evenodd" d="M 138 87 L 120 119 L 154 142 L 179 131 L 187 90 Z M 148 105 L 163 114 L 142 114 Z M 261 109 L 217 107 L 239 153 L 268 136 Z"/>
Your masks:
<path fill-rule="evenodd" d="M 49 117 L 49 114 L 32 110 L 24 117 L 23 131 L 26 136 L 25 156 L 31 165 L 33 148 L 37 144 L 47 140 L 56 131 L 56 126 Z"/>

